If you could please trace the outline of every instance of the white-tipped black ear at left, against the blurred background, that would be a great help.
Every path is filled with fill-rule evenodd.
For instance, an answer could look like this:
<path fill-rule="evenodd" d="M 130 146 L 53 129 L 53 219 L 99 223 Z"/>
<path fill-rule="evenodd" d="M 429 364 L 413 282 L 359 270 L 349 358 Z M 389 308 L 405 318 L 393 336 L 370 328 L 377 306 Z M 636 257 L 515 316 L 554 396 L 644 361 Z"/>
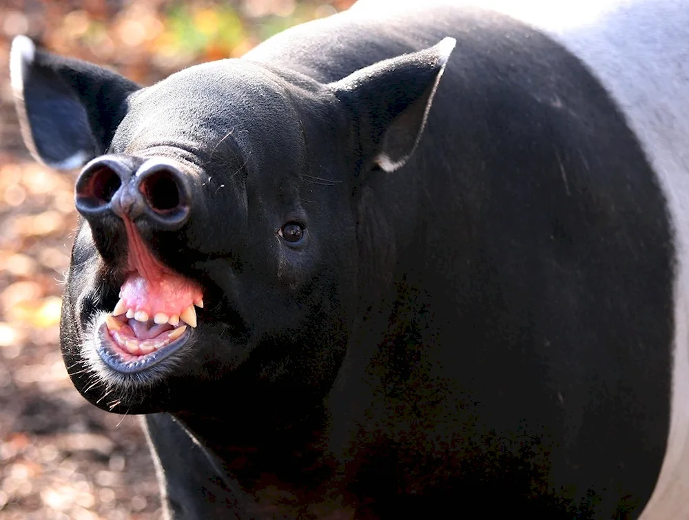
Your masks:
<path fill-rule="evenodd" d="M 12 41 L 10 80 L 21 135 L 32 156 L 56 169 L 81 167 L 103 154 L 140 87 L 98 65 Z"/>

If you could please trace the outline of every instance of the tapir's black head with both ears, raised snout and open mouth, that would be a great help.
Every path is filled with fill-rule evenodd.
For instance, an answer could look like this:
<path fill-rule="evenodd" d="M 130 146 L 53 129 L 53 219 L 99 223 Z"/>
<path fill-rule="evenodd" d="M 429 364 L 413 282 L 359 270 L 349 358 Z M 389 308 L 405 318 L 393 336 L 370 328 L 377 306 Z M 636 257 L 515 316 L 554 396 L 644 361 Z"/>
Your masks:
<path fill-rule="evenodd" d="M 83 167 L 61 348 L 84 397 L 150 413 L 218 388 L 322 395 L 374 262 L 362 193 L 412 156 L 453 45 L 331 83 L 235 59 L 140 87 L 17 37 L 26 145 Z"/>

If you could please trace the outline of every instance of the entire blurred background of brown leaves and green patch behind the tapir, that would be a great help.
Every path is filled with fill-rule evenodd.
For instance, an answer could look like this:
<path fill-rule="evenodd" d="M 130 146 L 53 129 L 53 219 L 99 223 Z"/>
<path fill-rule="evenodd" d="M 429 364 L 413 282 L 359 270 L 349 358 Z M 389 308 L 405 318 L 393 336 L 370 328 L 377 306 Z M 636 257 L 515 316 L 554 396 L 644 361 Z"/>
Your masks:
<path fill-rule="evenodd" d="M 59 353 L 76 172 L 32 161 L 9 81 L 12 37 L 150 85 L 182 67 L 241 56 L 353 0 L 2 0 L 0 3 L 0 519 L 159 519 L 138 419 L 72 387 Z"/>

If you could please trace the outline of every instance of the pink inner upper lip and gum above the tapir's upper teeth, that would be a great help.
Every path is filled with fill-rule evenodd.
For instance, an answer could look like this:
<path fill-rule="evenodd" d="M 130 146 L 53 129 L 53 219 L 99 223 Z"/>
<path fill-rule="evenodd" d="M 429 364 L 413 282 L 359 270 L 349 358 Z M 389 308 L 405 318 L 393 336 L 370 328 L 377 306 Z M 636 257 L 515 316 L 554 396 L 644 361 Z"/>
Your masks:
<path fill-rule="evenodd" d="M 121 287 L 120 298 L 127 309 L 144 311 L 152 320 L 157 313 L 164 313 L 168 317 L 180 315 L 189 305 L 203 298 L 194 282 L 171 273 L 152 256 L 128 218 L 124 222 L 130 270 L 135 271 Z"/>

